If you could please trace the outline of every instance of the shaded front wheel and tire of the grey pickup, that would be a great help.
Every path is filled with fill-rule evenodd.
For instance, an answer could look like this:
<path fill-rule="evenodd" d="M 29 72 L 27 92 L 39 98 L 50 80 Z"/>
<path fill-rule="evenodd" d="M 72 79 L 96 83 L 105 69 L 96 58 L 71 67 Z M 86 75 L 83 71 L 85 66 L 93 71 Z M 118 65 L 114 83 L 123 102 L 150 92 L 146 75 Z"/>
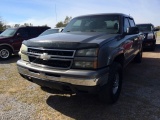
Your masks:
<path fill-rule="evenodd" d="M 122 87 L 122 67 L 113 62 L 110 66 L 108 83 L 103 85 L 99 92 L 99 100 L 105 104 L 114 104 L 120 96 Z"/>

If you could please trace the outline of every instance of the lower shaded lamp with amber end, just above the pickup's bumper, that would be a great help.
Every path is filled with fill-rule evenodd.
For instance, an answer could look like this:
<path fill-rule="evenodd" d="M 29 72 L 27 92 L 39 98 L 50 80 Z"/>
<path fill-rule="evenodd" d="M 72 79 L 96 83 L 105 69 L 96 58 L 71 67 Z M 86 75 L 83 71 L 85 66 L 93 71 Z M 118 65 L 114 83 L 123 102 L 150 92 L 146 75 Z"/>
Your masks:
<path fill-rule="evenodd" d="M 96 69 L 97 62 L 86 62 L 86 61 L 74 61 L 73 63 L 74 68 L 84 68 L 84 69 Z"/>

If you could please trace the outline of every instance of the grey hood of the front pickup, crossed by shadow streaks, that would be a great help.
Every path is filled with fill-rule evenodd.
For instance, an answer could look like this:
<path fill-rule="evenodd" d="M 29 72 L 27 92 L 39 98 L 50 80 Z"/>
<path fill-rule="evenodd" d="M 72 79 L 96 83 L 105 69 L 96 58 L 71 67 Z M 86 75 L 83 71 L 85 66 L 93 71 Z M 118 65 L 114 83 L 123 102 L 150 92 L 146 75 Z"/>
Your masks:
<path fill-rule="evenodd" d="M 114 39 L 117 34 L 106 33 L 56 33 L 40 36 L 24 41 L 28 47 L 42 47 L 54 49 L 82 49 L 98 47 Z"/>

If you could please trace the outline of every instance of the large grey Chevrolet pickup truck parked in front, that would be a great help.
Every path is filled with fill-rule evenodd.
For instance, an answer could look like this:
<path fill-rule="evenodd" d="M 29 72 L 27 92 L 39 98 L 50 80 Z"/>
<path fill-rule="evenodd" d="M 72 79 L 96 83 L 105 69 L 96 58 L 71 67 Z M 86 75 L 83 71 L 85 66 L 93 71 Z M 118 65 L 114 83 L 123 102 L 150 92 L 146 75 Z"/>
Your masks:
<path fill-rule="evenodd" d="M 40 86 L 95 93 L 107 104 L 121 92 L 123 68 L 142 60 L 143 35 L 121 13 L 79 16 L 62 33 L 24 41 L 19 74 Z"/>

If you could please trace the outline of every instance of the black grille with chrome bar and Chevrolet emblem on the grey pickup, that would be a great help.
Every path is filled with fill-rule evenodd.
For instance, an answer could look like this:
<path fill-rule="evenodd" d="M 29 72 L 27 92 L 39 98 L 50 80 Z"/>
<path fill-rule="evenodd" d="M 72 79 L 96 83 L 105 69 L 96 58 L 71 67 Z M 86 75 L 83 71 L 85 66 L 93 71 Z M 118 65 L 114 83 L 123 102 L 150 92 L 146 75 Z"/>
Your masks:
<path fill-rule="evenodd" d="M 73 62 L 74 50 L 28 48 L 27 52 L 31 64 L 69 69 Z"/>

